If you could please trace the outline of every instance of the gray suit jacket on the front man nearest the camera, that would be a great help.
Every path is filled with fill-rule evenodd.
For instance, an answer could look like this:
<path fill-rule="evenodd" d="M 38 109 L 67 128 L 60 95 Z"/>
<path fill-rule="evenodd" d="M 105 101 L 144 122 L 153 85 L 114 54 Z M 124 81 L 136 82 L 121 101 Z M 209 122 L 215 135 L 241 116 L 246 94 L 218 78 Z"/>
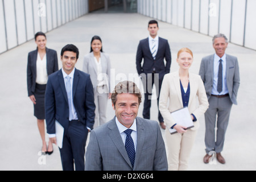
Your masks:
<path fill-rule="evenodd" d="M 137 150 L 134 168 L 113 118 L 92 130 L 86 149 L 86 171 L 167 171 L 168 163 L 162 133 L 155 121 L 136 118 Z"/>

